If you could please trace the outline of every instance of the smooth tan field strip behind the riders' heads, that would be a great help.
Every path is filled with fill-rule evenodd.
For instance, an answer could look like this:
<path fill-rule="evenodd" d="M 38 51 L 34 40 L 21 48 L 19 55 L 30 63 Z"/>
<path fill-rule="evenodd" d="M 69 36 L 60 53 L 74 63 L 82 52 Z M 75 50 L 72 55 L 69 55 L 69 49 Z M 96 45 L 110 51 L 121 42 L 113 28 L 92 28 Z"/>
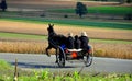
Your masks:
<path fill-rule="evenodd" d="M 21 20 L 20 20 L 21 21 Z M 13 33 L 26 33 L 26 34 L 38 34 L 47 35 L 48 22 L 40 21 L 21 21 L 19 20 L 0 20 L 0 31 L 1 32 L 13 32 Z M 52 21 L 51 21 L 52 22 Z M 8 23 L 8 24 L 7 24 Z M 11 25 L 10 25 L 11 24 Z M 92 23 L 95 24 L 95 23 Z M 109 23 L 108 23 L 109 24 Z M 103 23 L 102 23 L 103 25 Z M 106 24 L 105 24 L 106 25 Z M 114 24 L 116 25 L 116 24 Z M 120 24 L 123 25 L 123 24 Z M 118 25 L 118 26 L 120 26 Z M 123 28 L 131 28 L 132 24 L 124 24 Z M 113 26 L 113 25 L 111 25 Z M 127 39 L 132 40 L 131 30 L 122 28 L 108 28 L 106 27 L 95 27 L 95 26 L 84 26 L 84 25 L 68 25 L 68 24 L 54 24 L 55 32 L 57 34 L 64 34 L 67 36 L 69 32 L 74 35 L 80 35 L 81 32 L 86 31 L 90 38 L 108 38 L 108 39 Z M 76 30 L 75 30 L 76 28 Z"/>

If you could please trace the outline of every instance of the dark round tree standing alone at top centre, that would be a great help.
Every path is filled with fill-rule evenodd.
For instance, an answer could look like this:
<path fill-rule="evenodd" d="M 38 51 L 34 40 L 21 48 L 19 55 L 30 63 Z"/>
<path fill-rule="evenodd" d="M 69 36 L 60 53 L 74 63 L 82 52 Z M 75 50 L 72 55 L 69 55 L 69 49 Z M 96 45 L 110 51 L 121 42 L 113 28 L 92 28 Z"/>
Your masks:
<path fill-rule="evenodd" d="M 76 4 L 76 14 L 78 14 L 80 18 L 84 14 L 87 14 L 87 7 L 82 4 L 81 2 L 77 2 Z"/>

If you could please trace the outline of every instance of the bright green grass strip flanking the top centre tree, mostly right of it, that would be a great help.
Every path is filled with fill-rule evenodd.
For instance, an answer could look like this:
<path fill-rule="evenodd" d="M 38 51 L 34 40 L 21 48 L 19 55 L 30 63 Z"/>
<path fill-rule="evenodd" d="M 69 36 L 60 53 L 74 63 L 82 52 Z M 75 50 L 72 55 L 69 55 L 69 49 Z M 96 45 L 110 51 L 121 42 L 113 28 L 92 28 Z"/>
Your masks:
<path fill-rule="evenodd" d="M 100 13 L 100 14 L 117 14 L 125 15 L 132 13 L 132 7 L 88 7 L 88 13 Z M 58 9 L 51 10 L 51 12 L 59 13 L 75 13 L 75 9 Z"/>

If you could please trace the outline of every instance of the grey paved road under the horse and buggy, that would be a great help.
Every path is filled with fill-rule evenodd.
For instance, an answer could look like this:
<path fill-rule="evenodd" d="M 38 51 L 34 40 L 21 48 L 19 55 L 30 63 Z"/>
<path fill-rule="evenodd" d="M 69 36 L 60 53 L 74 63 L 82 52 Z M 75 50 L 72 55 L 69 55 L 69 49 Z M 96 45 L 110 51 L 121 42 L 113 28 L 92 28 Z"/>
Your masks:
<path fill-rule="evenodd" d="M 4 59 L 11 65 L 14 65 L 15 58 L 19 68 L 23 69 L 40 70 L 48 68 L 51 71 L 78 71 L 85 66 L 80 61 L 73 63 L 66 61 L 65 68 L 58 68 L 55 63 L 55 56 L 0 53 L 0 59 Z M 85 67 L 82 72 L 132 73 L 132 60 L 95 57 L 92 65 Z"/>

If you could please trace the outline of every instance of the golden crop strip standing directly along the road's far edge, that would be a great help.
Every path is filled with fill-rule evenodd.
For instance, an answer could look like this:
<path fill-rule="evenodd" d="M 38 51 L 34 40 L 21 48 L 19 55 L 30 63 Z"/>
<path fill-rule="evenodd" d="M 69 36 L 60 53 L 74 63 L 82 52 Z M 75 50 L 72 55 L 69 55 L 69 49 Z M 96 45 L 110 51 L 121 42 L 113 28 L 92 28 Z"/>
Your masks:
<path fill-rule="evenodd" d="M 47 40 L 44 42 L 0 42 L 1 53 L 45 54 Z M 132 59 L 132 44 L 90 42 L 94 46 L 95 56 Z M 52 49 L 50 54 L 55 54 Z"/>

